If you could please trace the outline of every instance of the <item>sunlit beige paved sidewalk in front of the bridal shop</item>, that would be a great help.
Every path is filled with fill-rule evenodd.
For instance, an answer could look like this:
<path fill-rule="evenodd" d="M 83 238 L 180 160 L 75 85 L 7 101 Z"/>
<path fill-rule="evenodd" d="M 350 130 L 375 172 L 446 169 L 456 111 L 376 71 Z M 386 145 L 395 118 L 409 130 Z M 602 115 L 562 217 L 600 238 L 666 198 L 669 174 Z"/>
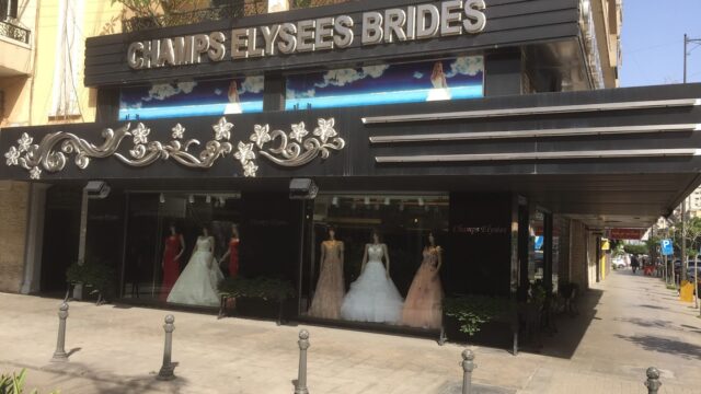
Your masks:
<path fill-rule="evenodd" d="M 598 294 L 601 294 L 600 299 Z M 589 312 L 559 321 L 540 354 L 474 347 L 474 381 L 491 393 L 645 393 L 644 370 L 664 372 L 660 393 L 701 393 L 701 320 L 656 278 L 614 273 Z M 72 302 L 67 363 L 51 363 L 55 299 L 0 293 L 0 370 L 28 369 L 42 393 L 291 394 L 297 333 L 311 333 L 309 387 L 321 393 L 459 393 L 462 348 L 429 339 L 175 312 L 172 382 L 160 382 L 164 311 Z M 586 329 L 586 331 L 585 331 Z M 574 344 L 573 344 L 574 343 Z M 487 390 L 489 389 L 489 390 Z"/>

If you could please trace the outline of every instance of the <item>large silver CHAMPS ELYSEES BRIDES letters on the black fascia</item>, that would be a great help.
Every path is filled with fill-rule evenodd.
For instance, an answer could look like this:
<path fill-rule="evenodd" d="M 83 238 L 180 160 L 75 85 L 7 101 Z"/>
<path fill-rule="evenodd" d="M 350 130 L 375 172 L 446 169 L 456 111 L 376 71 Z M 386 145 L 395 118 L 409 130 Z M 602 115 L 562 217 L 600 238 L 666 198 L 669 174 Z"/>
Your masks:
<path fill-rule="evenodd" d="M 196 65 L 204 61 L 258 58 L 315 50 L 343 49 L 357 37 L 360 44 L 377 45 L 461 34 L 478 34 L 486 26 L 484 0 L 450 0 L 364 12 L 361 21 L 352 16 L 325 16 L 268 26 L 135 42 L 127 50 L 133 69 Z M 227 54 L 229 53 L 229 54 Z"/>

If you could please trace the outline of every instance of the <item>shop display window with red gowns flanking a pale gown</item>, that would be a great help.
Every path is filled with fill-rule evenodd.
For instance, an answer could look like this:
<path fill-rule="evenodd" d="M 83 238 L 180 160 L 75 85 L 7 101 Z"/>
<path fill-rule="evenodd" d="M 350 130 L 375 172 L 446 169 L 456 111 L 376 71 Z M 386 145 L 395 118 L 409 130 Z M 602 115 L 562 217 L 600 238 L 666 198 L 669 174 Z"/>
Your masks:
<path fill-rule="evenodd" d="M 235 194 L 130 194 L 122 294 L 218 306 L 218 282 L 239 271 Z"/>

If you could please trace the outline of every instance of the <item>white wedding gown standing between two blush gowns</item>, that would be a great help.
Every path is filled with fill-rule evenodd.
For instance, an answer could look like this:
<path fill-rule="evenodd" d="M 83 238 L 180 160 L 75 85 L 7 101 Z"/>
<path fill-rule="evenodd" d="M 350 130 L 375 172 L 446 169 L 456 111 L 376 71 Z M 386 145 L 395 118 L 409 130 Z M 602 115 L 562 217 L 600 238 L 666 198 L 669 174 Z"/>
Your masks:
<path fill-rule="evenodd" d="M 404 300 L 387 276 L 382 255 L 382 244 L 368 246 L 368 262 L 343 299 L 341 317 L 375 323 L 400 321 Z"/>

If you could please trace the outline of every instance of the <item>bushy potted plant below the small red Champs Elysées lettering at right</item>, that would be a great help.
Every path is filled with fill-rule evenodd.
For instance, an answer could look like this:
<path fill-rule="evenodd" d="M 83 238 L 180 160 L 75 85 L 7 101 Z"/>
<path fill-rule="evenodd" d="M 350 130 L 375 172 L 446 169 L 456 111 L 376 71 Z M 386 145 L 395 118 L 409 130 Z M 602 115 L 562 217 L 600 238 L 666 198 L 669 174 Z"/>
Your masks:
<path fill-rule="evenodd" d="M 457 322 L 458 331 L 467 334 L 468 339 L 508 310 L 508 300 L 504 298 L 467 294 L 444 299 L 445 315 Z"/>

